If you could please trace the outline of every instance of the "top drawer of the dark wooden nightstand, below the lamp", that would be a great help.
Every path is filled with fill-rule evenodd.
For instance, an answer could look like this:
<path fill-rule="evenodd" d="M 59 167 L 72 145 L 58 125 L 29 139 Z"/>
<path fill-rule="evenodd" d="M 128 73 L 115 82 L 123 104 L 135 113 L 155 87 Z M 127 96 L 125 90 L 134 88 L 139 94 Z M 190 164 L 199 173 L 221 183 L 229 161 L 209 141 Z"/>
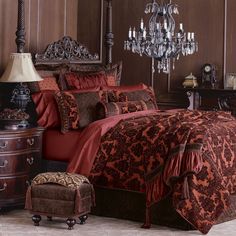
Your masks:
<path fill-rule="evenodd" d="M 40 137 L 0 138 L 0 152 L 40 148 Z"/>

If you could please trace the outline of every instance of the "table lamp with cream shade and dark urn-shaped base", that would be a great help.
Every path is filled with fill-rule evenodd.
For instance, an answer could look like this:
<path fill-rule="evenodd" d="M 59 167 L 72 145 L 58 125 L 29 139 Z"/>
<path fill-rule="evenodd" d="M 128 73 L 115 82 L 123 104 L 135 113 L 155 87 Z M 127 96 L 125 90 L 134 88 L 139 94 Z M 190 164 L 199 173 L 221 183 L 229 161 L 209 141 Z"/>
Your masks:
<path fill-rule="evenodd" d="M 2 120 L 19 121 L 15 128 L 27 127 L 26 120 L 29 115 L 25 112 L 28 102 L 30 102 L 30 90 L 27 87 L 27 82 L 41 81 L 42 78 L 38 75 L 34 68 L 30 53 L 12 53 L 8 62 L 7 68 L 0 78 L 3 83 L 18 83 L 12 92 L 11 102 L 16 105 L 16 109 L 10 112 L 7 109 L 1 113 Z"/>

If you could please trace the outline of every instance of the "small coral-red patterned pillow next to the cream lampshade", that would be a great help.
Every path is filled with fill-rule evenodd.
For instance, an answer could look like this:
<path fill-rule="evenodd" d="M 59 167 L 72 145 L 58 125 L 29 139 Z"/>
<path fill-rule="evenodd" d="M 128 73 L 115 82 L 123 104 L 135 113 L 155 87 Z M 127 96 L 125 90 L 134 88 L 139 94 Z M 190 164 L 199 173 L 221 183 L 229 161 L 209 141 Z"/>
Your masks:
<path fill-rule="evenodd" d="M 42 81 L 28 83 L 31 93 L 36 93 L 44 90 L 59 91 L 59 87 L 54 76 L 42 77 Z"/>

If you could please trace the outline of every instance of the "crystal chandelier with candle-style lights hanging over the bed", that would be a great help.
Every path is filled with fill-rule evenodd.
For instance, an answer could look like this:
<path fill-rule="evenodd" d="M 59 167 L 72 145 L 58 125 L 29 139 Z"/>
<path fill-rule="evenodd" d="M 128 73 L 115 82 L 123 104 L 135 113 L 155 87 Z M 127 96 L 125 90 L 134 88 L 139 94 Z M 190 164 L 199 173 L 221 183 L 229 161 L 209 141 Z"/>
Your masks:
<path fill-rule="evenodd" d="M 129 28 L 128 40 L 124 42 L 125 50 L 156 59 L 159 73 L 169 73 L 171 64 L 175 69 L 175 60 L 179 59 L 180 54 L 187 56 L 198 51 L 194 33 L 185 33 L 182 23 L 179 31 L 175 32 L 173 14 L 179 14 L 179 11 L 171 0 L 168 4 L 153 0 L 146 5 L 145 14 L 151 14 L 148 26 L 141 19 L 139 30 Z"/>

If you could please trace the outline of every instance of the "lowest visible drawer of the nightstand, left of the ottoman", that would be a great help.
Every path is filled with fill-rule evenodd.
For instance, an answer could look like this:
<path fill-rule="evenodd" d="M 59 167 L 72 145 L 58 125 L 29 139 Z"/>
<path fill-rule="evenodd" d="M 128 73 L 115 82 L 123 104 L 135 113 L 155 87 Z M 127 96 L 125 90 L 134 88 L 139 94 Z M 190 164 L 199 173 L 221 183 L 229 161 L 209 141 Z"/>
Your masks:
<path fill-rule="evenodd" d="M 27 175 L 0 178 L 0 201 L 4 198 L 25 196 L 28 186 L 29 177 Z"/>

